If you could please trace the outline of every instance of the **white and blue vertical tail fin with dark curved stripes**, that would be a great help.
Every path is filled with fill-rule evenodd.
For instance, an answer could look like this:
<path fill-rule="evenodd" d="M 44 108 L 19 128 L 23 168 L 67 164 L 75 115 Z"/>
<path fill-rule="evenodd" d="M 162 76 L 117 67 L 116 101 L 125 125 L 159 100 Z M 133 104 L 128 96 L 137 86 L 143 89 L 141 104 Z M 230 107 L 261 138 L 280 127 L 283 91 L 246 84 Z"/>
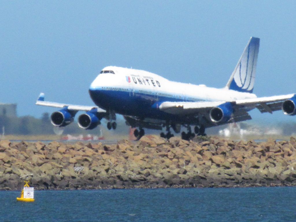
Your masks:
<path fill-rule="evenodd" d="M 226 87 L 239 92 L 252 93 L 256 75 L 256 65 L 260 38 L 251 37 Z"/>

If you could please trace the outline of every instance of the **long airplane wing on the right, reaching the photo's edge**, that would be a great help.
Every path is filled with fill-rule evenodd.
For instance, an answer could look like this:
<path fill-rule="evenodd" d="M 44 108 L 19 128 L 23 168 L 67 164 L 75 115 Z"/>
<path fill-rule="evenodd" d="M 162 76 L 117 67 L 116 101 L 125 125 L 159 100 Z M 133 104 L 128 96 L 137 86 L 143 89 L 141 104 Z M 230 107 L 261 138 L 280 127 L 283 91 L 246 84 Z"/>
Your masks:
<path fill-rule="evenodd" d="M 254 99 L 240 99 L 235 101 L 218 101 L 218 102 L 163 102 L 159 109 L 174 115 L 199 116 L 205 120 L 205 125 L 218 126 L 225 123 L 239 122 L 252 119 L 248 111 L 257 108 L 261 113 L 272 113 L 282 109 L 285 100 L 291 99 L 296 94 L 281 96 L 259 97 Z M 229 106 L 231 117 L 227 121 L 213 121 L 210 116 L 211 110 L 215 107 Z M 223 114 L 222 114 L 223 115 Z"/>

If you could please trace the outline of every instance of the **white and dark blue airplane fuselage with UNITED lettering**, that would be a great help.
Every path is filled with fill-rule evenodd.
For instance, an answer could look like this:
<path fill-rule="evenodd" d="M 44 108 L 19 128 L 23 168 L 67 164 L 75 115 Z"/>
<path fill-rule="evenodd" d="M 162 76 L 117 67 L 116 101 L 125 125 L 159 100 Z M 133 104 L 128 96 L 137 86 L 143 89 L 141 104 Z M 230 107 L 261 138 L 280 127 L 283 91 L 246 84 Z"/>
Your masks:
<path fill-rule="evenodd" d="M 89 94 L 105 110 L 139 118 L 180 118 L 157 109 L 161 102 L 235 101 L 255 94 L 205 85 L 169 81 L 144 70 L 105 67 L 91 83 Z"/>

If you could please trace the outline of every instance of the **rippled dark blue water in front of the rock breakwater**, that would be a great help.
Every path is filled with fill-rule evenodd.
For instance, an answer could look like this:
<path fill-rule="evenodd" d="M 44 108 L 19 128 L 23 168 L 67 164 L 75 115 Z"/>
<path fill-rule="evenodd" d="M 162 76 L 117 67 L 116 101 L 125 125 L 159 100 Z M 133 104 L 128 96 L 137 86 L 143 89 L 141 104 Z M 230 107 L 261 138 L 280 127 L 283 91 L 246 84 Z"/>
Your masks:
<path fill-rule="evenodd" d="M 296 187 L 0 192 L 0 221 L 296 221 Z"/>

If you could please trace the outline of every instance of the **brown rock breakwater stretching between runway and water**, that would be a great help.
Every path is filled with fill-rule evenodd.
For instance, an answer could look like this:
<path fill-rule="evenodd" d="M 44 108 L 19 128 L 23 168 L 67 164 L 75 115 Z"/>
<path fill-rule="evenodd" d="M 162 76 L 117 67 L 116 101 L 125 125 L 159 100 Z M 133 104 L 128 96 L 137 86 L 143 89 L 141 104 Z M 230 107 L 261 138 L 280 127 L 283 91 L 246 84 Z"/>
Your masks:
<path fill-rule="evenodd" d="M 66 144 L 0 141 L 0 189 L 232 187 L 296 185 L 296 139 L 256 143 L 209 141 Z"/>

